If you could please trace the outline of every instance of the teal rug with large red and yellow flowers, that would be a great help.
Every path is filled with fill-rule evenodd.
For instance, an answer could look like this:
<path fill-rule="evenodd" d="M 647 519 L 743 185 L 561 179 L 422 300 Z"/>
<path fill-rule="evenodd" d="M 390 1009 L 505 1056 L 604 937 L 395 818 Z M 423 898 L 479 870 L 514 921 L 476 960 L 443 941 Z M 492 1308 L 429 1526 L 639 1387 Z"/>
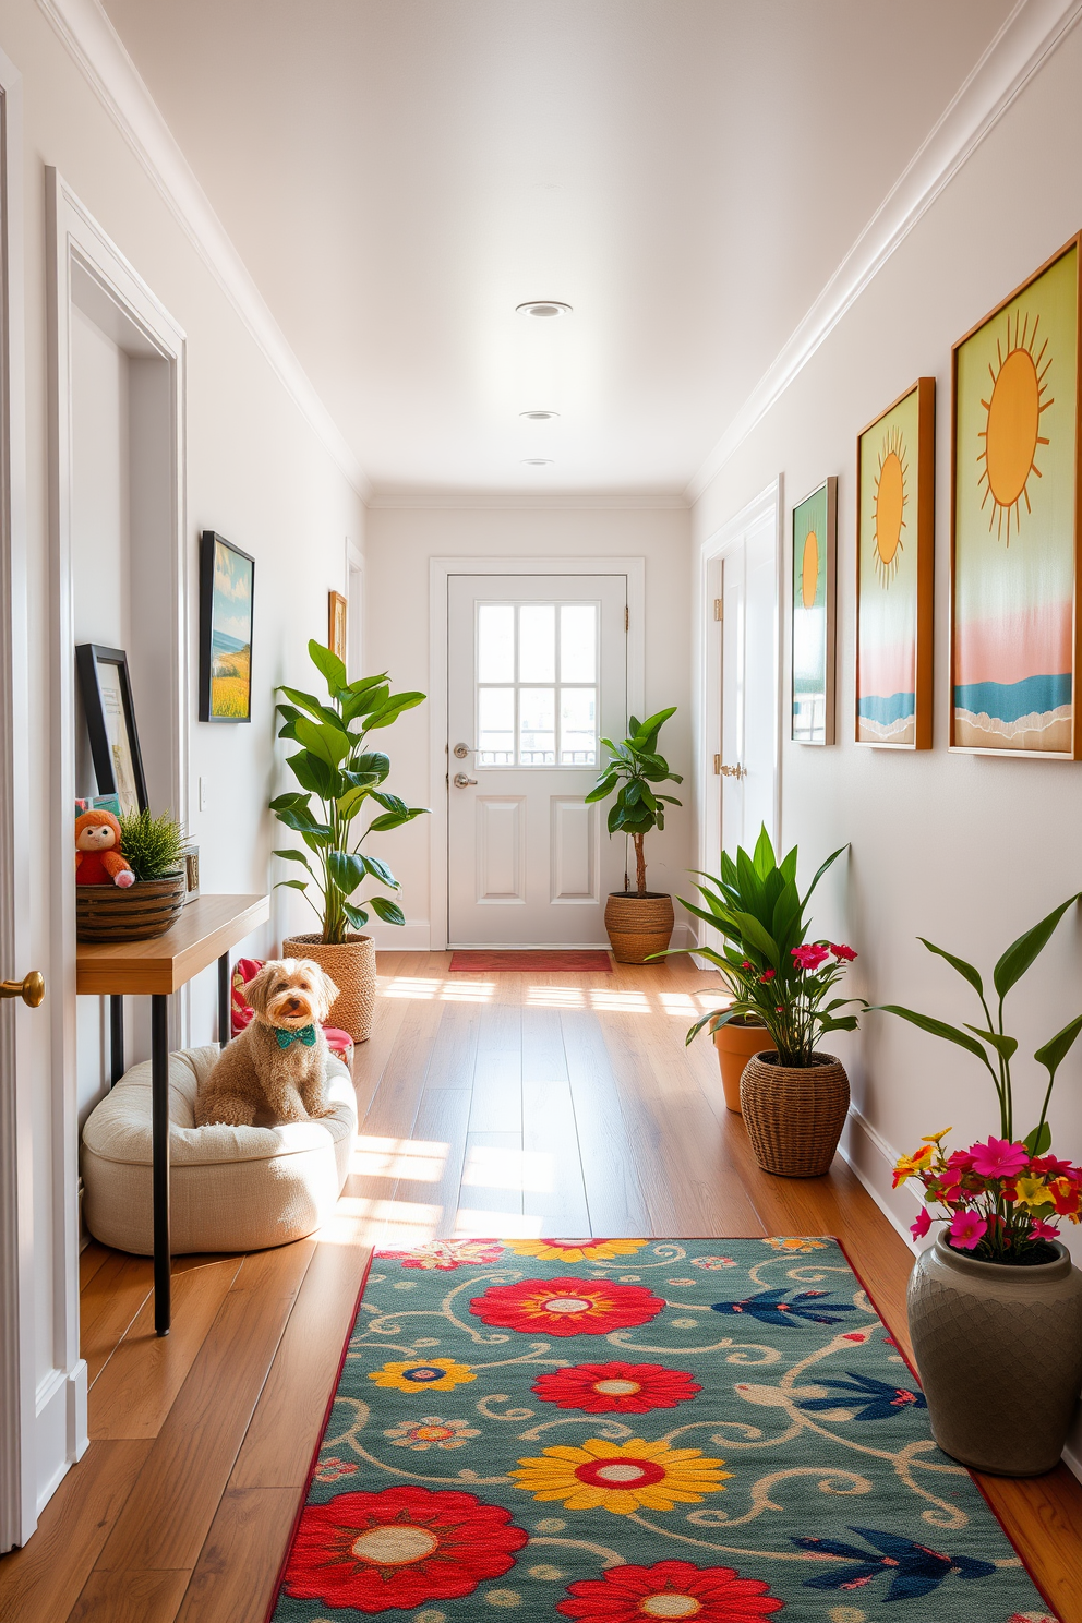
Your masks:
<path fill-rule="evenodd" d="M 835 1240 L 378 1251 L 274 1623 L 1056 1623 Z"/>

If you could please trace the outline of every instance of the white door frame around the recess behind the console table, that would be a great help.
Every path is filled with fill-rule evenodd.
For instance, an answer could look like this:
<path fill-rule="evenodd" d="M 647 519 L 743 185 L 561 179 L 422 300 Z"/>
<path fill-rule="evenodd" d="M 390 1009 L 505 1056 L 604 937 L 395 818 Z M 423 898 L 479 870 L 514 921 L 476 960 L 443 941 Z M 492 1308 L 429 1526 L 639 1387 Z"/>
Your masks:
<path fill-rule="evenodd" d="M 161 592 L 162 665 L 167 687 L 170 799 L 188 815 L 188 601 L 185 553 L 185 334 L 125 260 L 55 169 L 45 169 L 49 273 L 49 550 L 50 550 L 50 751 L 52 808 L 47 831 L 52 951 L 50 995 L 54 1113 L 49 1146 L 52 1177 L 52 1248 L 39 1248 L 39 1290 L 52 1285 L 52 1370 L 37 1384 L 39 1492 L 49 1500 L 68 1466 L 88 1446 L 86 1363 L 79 1358 L 79 1227 L 76 1035 L 75 1035 L 75 886 L 71 807 L 75 803 L 75 661 L 71 605 L 71 310 L 84 310 L 120 347 L 169 367 L 169 420 L 159 469 L 169 487 L 169 568 Z M 156 448 L 157 451 L 159 448 Z M 164 487 L 162 487 L 164 489 Z M 54 1406 L 63 1406 L 63 1425 Z M 54 1410 L 47 1420 L 47 1410 Z M 49 1446 L 45 1438 L 50 1440 Z M 63 1446 L 62 1446 L 63 1444 Z"/>

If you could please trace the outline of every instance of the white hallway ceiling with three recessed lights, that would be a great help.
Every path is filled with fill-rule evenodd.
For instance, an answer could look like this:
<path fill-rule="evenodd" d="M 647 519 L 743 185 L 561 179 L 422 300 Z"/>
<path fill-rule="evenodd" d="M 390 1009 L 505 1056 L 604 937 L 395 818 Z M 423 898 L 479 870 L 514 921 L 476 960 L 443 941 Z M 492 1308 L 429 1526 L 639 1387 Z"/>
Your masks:
<path fill-rule="evenodd" d="M 104 5 L 376 495 L 683 492 L 1011 10 Z"/>

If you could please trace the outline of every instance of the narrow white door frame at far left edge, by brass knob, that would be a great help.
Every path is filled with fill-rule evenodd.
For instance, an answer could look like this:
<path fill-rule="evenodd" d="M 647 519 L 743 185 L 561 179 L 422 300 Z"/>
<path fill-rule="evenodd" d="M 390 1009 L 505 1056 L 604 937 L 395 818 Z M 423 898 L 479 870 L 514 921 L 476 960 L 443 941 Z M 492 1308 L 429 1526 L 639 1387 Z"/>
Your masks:
<path fill-rule="evenodd" d="M 0 50 L 0 975 L 29 962 L 29 716 L 26 599 L 26 365 L 23 307 L 23 81 Z M 34 1208 L 31 1042 L 47 1021 L 0 1008 L 0 1552 L 37 1526 L 34 1451 Z"/>

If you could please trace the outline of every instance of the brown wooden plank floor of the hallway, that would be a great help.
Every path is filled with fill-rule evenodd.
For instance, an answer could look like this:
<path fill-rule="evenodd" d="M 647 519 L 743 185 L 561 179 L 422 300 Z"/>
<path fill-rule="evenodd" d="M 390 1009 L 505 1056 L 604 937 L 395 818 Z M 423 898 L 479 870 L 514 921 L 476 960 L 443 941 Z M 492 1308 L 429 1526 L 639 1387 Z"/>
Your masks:
<path fill-rule="evenodd" d="M 842 1160 L 806 1183 L 761 1173 L 712 1048 L 685 1050 L 701 972 L 448 966 L 380 956 L 354 1172 L 318 1235 L 177 1259 L 164 1341 L 149 1261 L 84 1251 L 92 1441 L 28 1547 L 0 1556 L 0 1623 L 263 1623 L 371 1243 L 835 1233 L 905 1344 L 912 1256 L 857 1178 Z M 1082 1485 L 1066 1467 L 981 1485 L 1082 1623 Z"/>

